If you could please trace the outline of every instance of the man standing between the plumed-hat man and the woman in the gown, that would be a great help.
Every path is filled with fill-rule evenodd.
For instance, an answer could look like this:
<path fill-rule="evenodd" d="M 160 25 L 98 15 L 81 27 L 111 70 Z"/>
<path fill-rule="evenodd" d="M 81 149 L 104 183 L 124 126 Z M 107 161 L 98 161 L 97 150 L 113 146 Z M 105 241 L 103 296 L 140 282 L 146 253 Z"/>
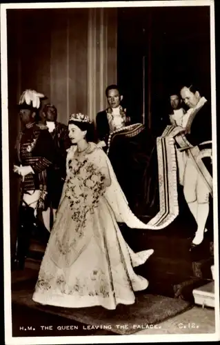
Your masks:
<path fill-rule="evenodd" d="M 46 104 L 43 108 L 43 122 L 48 127 L 54 148 L 55 159 L 48 170 L 48 201 L 49 206 L 43 212 L 43 220 L 46 228 L 50 231 L 50 211 L 54 217 L 59 206 L 63 183 L 66 179 L 66 150 L 70 148 L 71 141 L 68 136 L 68 126 L 57 121 L 57 108 L 52 104 Z"/>

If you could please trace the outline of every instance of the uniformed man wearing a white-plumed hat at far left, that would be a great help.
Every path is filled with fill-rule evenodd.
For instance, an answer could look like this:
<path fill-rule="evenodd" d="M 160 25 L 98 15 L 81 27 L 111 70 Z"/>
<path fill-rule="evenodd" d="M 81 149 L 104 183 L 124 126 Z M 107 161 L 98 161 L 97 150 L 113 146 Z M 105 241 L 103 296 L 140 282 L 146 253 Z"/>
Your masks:
<path fill-rule="evenodd" d="M 22 130 L 16 144 L 14 172 L 21 176 L 21 204 L 14 264 L 23 269 L 39 210 L 46 208 L 47 171 L 54 159 L 48 128 L 36 123 L 44 95 L 26 90 L 19 102 Z M 35 228 L 36 230 L 36 228 Z"/>

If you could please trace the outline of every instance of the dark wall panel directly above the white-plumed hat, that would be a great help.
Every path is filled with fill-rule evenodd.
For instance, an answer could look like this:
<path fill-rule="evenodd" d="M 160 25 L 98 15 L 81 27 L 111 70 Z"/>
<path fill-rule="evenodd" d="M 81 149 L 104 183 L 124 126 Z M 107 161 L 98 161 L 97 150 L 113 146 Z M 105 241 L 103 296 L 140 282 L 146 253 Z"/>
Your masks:
<path fill-rule="evenodd" d="M 34 88 L 50 97 L 50 26 L 47 10 L 21 11 L 18 34 L 21 92 Z"/>

